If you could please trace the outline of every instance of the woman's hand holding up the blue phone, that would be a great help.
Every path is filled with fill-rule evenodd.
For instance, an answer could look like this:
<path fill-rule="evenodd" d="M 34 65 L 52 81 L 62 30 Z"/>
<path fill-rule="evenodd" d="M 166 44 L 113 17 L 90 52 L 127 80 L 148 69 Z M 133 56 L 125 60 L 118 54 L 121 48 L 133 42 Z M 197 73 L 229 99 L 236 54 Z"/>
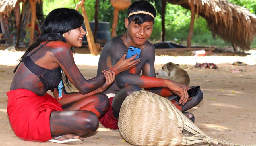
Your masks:
<path fill-rule="evenodd" d="M 141 60 L 141 58 L 135 59 L 138 54 L 133 55 L 131 58 L 127 58 L 126 57 L 126 53 L 119 59 L 119 61 L 110 69 L 112 71 L 115 71 L 116 75 L 118 73 L 121 73 L 123 71 L 126 71 L 128 69 L 130 69 L 132 66 L 138 64 Z M 133 60 L 135 59 L 135 60 Z"/>

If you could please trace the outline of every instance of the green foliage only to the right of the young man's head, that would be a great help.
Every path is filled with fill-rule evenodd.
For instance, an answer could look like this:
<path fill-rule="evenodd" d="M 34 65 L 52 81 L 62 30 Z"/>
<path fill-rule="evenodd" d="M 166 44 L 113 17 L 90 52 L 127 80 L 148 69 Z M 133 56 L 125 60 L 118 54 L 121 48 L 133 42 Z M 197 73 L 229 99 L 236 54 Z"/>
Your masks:
<path fill-rule="evenodd" d="M 230 0 L 231 2 L 235 2 L 235 4 L 240 6 L 245 6 L 245 8 L 249 9 L 251 13 L 256 12 L 256 1 L 252 0 Z M 160 14 L 159 14 L 160 15 Z M 175 40 L 186 42 L 187 36 L 189 34 L 189 25 L 191 21 L 191 13 L 190 10 L 187 10 L 179 5 L 166 5 L 166 15 L 165 15 L 165 29 L 166 41 L 175 42 Z M 154 31 L 150 37 L 152 42 L 160 41 L 161 39 L 161 16 L 157 16 L 155 24 L 154 24 Z M 256 40 L 256 39 L 255 39 Z M 177 42 L 177 41 L 176 41 Z M 177 42 L 178 43 L 178 42 Z M 208 29 L 208 24 L 206 20 L 200 16 L 198 19 L 195 20 L 194 23 L 194 30 L 193 30 L 193 39 L 192 39 L 192 46 L 218 46 L 224 47 L 230 45 L 223 41 L 221 38 L 212 37 L 211 31 Z M 251 45 L 252 48 L 256 46 L 256 41 L 254 41 Z M 183 43 L 182 45 L 186 45 Z"/>

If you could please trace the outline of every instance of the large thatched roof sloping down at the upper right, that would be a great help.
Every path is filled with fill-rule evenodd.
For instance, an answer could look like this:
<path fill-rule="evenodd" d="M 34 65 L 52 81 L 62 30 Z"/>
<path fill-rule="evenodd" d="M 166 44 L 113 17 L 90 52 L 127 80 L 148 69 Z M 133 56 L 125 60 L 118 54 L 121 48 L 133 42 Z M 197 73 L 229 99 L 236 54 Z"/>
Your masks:
<path fill-rule="evenodd" d="M 216 35 L 249 50 L 256 37 L 256 16 L 244 7 L 226 0 L 167 0 L 190 9 L 189 3 L 195 5 L 197 14 L 205 18 L 212 35 Z"/>

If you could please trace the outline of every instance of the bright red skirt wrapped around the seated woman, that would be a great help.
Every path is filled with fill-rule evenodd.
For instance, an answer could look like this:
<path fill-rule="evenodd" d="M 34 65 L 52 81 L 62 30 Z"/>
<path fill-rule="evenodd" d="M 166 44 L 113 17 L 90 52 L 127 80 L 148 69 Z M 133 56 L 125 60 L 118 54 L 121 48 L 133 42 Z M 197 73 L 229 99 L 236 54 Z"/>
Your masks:
<path fill-rule="evenodd" d="M 63 111 L 61 104 L 50 94 L 38 96 L 26 89 L 7 92 L 7 114 L 14 133 L 26 141 L 48 141 L 50 132 L 50 114 Z"/>

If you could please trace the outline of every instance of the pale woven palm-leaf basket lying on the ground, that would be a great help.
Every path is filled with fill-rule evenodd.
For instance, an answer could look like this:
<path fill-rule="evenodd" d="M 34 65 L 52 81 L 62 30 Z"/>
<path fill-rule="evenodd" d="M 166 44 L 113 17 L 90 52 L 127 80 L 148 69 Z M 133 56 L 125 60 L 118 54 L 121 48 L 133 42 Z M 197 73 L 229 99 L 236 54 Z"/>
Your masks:
<path fill-rule="evenodd" d="M 135 146 L 234 145 L 205 135 L 169 100 L 147 91 L 127 96 L 118 126 L 125 141 Z"/>

